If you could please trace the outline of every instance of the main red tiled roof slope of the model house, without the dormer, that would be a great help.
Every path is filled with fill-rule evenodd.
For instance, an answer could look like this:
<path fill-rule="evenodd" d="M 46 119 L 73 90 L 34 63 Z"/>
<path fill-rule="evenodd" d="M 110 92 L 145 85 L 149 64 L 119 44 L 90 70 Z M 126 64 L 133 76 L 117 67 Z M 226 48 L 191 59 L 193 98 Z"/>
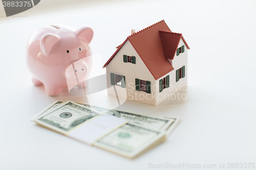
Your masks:
<path fill-rule="evenodd" d="M 164 50 L 160 37 L 160 34 L 162 33 L 159 33 L 160 30 L 172 33 L 164 20 L 161 20 L 150 27 L 147 27 L 137 33 L 130 35 L 121 45 L 118 46 L 116 52 L 104 64 L 103 68 L 110 63 L 110 61 L 115 57 L 115 55 L 122 48 L 125 42 L 129 40 L 156 80 L 166 75 L 168 72 L 174 70 L 172 64 L 170 64 L 170 62 L 167 60 L 167 57 L 165 57 L 164 55 Z M 164 38 L 165 37 L 167 36 L 164 35 Z M 176 43 L 177 41 L 175 42 L 175 45 Z M 178 46 L 178 44 L 176 46 Z"/>

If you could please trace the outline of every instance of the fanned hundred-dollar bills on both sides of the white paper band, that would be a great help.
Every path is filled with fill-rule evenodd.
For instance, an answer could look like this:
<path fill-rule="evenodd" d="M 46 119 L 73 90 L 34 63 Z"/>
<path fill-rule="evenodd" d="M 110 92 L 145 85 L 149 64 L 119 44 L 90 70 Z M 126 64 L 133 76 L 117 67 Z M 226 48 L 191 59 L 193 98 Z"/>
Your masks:
<path fill-rule="evenodd" d="M 72 101 L 55 101 L 31 120 L 69 136 L 69 132 L 101 114 L 125 119 L 127 123 L 104 134 L 91 145 L 129 158 L 165 141 L 180 122 L 180 118 L 130 113 Z"/>

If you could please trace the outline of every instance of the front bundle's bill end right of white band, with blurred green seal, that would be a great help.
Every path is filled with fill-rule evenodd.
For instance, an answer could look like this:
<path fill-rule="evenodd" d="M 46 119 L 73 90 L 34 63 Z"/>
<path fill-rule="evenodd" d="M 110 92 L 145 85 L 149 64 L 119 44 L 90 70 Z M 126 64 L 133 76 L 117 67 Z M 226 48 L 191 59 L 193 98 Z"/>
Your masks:
<path fill-rule="evenodd" d="M 154 131 L 126 124 L 101 138 L 94 145 L 125 157 L 134 158 L 165 139 L 165 131 Z"/>

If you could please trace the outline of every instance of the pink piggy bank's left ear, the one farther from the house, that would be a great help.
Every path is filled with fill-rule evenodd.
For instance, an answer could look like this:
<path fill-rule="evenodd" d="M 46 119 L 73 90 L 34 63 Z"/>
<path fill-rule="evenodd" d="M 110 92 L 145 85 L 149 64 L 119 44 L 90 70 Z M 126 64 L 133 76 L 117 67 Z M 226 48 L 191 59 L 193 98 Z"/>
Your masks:
<path fill-rule="evenodd" d="M 40 40 L 40 47 L 42 54 L 48 56 L 49 52 L 51 51 L 52 46 L 60 40 L 59 36 L 51 33 L 47 33 L 42 36 Z"/>

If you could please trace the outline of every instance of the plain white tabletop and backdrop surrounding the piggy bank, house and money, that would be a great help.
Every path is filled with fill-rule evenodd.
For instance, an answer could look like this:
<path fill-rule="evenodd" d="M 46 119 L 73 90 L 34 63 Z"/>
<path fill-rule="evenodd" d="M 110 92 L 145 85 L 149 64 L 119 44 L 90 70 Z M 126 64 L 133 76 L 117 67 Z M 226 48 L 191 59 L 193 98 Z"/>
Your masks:
<path fill-rule="evenodd" d="M 0 169 L 150 169 L 148 164 L 256 163 L 255 1 L 58 1 L 6 17 L 0 6 Z M 93 54 L 108 60 L 131 29 L 165 19 L 189 47 L 186 100 L 158 106 L 126 101 L 118 109 L 181 117 L 166 142 L 137 159 L 80 143 L 29 119 L 55 100 L 83 102 L 68 90 L 52 97 L 34 86 L 26 43 L 60 23 L 94 30 Z M 103 70 L 103 69 L 102 69 Z M 108 95 L 103 95 L 106 105 Z M 179 169 L 179 168 L 176 168 Z M 218 168 L 215 168 L 218 169 Z M 243 169 L 243 168 L 237 168 Z M 248 169 L 248 168 L 244 168 Z M 255 168 L 254 168 L 255 169 Z"/>

